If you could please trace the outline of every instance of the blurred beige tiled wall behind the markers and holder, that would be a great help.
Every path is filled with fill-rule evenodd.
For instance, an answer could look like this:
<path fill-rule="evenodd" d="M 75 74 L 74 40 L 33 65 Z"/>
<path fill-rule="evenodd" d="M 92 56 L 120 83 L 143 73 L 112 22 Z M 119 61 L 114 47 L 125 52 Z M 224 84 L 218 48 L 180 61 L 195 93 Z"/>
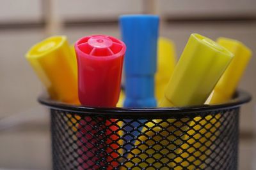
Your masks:
<path fill-rule="evenodd" d="M 160 36 L 180 56 L 189 35 L 242 41 L 253 57 L 239 87 L 256 97 L 255 0 L 0 0 L 0 169 L 51 169 L 47 109 L 37 103 L 42 86 L 24 58 L 31 45 L 53 34 L 70 43 L 89 34 L 120 38 L 118 16 L 160 15 Z M 256 169 L 256 103 L 243 106 L 239 169 Z"/>

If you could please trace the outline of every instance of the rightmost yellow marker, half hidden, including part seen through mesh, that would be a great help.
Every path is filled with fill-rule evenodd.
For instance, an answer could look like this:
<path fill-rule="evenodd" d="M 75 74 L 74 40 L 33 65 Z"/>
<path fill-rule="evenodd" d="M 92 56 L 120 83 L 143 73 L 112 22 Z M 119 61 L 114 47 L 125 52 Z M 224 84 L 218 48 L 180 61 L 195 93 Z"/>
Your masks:
<path fill-rule="evenodd" d="M 246 69 L 246 66 L 252 56 L 251 50 L 243 45 L 243 43 L 236 41 L 234 39 L 228 39 L 228 38 L 218 38 L 217 43 L 221 46 L 224 46 L 227 48 L 227 50 L 230 50 L 230 52 L 234 53 L 234 59 L 230 62 L 229 66 L 227 67 L 226 71 L 221 76 L 220 80 L 216 84 L 213 90 L 213 94 L 211 97 L 209 97 L 209 104 L 220 104 L 228 102 L 234 93 L 236 92 L 239 80 L 241 79 L 244 70 Z M 199 133 L 193 134 L 195 131 L 191 131 L 189 134 L 193 136 L 193 138 L 197 141 L 193 147 L 188 148 L 188 153 L 193 153 L 193 156 L 196 160 L 194 160 L 193 157 L 188 157 L 187 159 L 190 162 L 193 162 L 193 164 L 200 165 L 202 168 L 205 168 L 202 164 L 201 160 L 207 159 L 206 155 L 210 155 L 211 150 L 207 150 L 205 146 L 211 146 L 212 141 L 216 139 L 216 136 L 220 134 L 220 132 L 217 132 L 218 127 L 220 127 L 220 122 L 218 122 L 221 118 L 221 114 L 215 115 L 215 117 L 212 117 L 211 115 L 205 117 L 206 120 L 211 120 L 211 124 L 207 124 L 205 120 L 202 120 L 200 117 L 196 117 L 194 120 L 195 122 L 200 122 L 200 125 L 195 125 L 193 129 L 195 131 L 199 131 L 201 134 L 205 134 L 206 138 L 210 139 L 207 141 L 206 138 L 202 138 L 202 135 Z M 213 124 L 213 125 L 212 125 Z M 211 134 L 207 131 L 211 131 L 212 133 L 215 133 L 214 136 L 211 136 Z M 188 143 L 193 143 L 194 139 L 189 139 Z M 204 145 L 201 145 L 204 143 Z M 184 150 L 186 149 L 185 146 L 182 147 Z M 196 150 L 200 150 L 201 152 L 195 152 Z M 191 166 L 193 169 L 193 167 Z"/>

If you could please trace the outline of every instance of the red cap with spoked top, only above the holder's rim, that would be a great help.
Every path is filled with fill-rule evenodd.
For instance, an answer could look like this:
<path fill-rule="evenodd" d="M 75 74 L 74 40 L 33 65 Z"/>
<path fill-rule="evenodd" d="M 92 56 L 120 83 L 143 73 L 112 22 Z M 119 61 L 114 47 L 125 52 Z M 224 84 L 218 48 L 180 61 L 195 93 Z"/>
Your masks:
<path fill-rule="evenodd" d="M 75 44 L 81 104 L 115 107 L 120 94 L 125 44 L 111 36 L 93 35 Z"/>

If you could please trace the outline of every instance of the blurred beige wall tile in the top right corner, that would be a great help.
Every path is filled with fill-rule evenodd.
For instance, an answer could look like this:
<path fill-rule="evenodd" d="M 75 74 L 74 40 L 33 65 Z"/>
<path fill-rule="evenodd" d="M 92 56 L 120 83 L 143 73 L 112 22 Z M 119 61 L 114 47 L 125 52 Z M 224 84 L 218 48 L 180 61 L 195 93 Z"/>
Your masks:
<path fill-rule="evenodd" d="M 256 13 L 254 0 L 160 0 L 157 4 L 159 12 L 172 18 L 246 17 Z"/>

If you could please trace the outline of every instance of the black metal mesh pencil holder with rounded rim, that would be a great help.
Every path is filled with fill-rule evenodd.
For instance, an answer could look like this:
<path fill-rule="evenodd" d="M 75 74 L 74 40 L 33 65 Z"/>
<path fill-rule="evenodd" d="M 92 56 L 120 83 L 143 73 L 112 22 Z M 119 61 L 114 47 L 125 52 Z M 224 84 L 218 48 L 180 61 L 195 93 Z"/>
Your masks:
<path fill-rule="evenodd" d="M 189 108 L 38 101 L 51 110 L 53 169 L 237 169 L 239 108 L 250 99 L 239 90 L 228 103 Z"/>

